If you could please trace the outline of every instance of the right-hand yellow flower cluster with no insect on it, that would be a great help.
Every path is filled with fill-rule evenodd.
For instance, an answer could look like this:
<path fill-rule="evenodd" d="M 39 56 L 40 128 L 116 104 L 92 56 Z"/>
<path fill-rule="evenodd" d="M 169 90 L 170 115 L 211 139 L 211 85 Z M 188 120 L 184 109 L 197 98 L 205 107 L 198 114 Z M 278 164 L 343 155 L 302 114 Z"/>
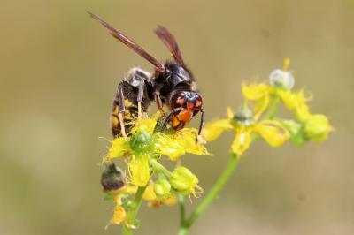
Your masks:
<path fill-rule="evenodd" d="M 333 127 L 326 116 L 311 113 L 307 104 L 311 95 L 305 95 L 304 90 L 292 90 L 295 80 L 288 67 L 287 58 L 283 70 L 271 72 L 268 83 L 243 83 L 242 107 L 235 114 L 228 108 L 226 119 L 206 125 L 204 140 L 215 140 L 222 132 L 231 130 L 235 133 L 231 148 L 236 155 L 242 155 L 252 140 L 266 140 L 272 147 L 279 147 L 287 140 L 297 146 L 309 140 L 326 140 Z M 275 117 L 281 102 L 294 113 L 295 119 Z"/>

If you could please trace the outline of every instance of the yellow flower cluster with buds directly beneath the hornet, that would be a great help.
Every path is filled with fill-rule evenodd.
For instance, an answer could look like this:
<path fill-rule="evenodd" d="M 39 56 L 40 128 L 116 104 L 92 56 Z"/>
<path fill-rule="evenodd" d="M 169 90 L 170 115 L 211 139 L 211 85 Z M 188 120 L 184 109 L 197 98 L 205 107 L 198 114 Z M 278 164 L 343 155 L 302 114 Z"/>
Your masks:
<path fill-rule="evenodd" d="M 158 115 L 138 118 L 129 136 L 112 140 L 112 146 L 104 156 L 106 170 L 101 183 L 106 198 L 116 204 L 110 224 L 135 227 L 136 224 L 127 224 L 126 211 L 138 188 L 144 188 L 142 197 L 151 207 L 173 205 L 177 194 L 196 196 L 202 191 L 198 178 L 186 167 L 178 166 L 168 171 L 159 163 L 164 156 L 177 161 L 187 153 L 210 155 L 203 143 L 196 141 L 196 129 L 161 130 L 160 121 Z M 112 163 L 117 158 L 127 163 L 127 177 Z"/>

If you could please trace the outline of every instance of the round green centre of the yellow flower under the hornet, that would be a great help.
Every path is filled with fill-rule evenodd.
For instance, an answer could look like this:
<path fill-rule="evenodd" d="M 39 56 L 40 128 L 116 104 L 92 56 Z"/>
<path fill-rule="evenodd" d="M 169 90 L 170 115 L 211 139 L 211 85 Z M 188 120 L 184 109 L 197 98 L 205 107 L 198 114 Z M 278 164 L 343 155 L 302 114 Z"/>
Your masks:
<path fill-rule="evenodd" d="M 129 144 L 133 151 L 142 154 L 149 153 L 154 148 L 153 136 L 145 129 L 141 129 L 139 132 L 134 133 Z"/>

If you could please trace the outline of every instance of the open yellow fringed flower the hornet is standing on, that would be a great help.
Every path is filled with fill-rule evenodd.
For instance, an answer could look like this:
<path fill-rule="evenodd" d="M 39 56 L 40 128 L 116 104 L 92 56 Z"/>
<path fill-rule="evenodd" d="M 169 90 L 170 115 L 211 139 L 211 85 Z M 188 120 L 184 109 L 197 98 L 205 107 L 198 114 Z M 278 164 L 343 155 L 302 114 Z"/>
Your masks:
<path fill-rule="evenodd" d="M 131 183 L 135 186 L 146 186 L 150 180 L 149 159 L 151 155 L 166 155 L 176 161 L 181 155 L 210 155 L 204 144 L 196 142 L 195 128 L 183 128 L 174 133 L 154 132 L 157 116 L 137 121 L 128 137 L 119 137 L 112 141 L 104 163 L 112 159 L 126 156 Z"/>

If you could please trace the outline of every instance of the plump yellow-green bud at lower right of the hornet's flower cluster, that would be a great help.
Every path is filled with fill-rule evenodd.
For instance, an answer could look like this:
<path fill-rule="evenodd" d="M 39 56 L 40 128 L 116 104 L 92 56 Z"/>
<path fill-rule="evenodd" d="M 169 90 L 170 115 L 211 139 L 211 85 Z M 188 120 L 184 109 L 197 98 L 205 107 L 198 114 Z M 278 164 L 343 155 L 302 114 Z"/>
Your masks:
<path fill-rule="evenodd" d="M 170 178 L 170 183 L 173 189 L 183 195 L 195 194 L 196 189 L 201 189 L 198 186 L 198 178 L 185 167 L 177 167 Z"/>

